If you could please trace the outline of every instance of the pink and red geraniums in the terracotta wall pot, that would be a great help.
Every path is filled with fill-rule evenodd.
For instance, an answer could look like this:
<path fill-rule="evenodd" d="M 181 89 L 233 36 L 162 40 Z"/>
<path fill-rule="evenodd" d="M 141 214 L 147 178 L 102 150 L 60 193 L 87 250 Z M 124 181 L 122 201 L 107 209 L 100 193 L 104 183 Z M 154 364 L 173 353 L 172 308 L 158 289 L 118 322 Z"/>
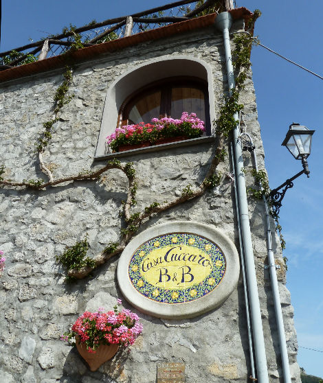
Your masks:
<path fill-rule="evenodd" d="M 120 304 L 118 300 L 118 304 Z M 71 332 L 60 337 L 69 341 L 76 337 L 80 343 L 85 343 L 87 351 L 96 352 L 100 343 L 104 345 L 118 344 L 124 347 L 133 345 L 137 336 L 142 333 L 142 324 L 137 314 L 130 310 L 104 312 L 102 307 L 98 312 L 85 312 L 71 327 Z"/>

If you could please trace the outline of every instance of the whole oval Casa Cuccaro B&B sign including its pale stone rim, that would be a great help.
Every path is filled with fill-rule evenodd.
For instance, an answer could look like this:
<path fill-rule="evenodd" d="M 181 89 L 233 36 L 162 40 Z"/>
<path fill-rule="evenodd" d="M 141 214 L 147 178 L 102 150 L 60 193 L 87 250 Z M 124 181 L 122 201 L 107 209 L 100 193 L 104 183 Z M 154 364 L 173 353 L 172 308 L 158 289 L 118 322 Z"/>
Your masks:
<path fill-rule="evenodd" d="M 235 288 L 239 270 L 236 248 L 219 230 L 197 222 L 167 222 L 126 246 L 118 283 L 139 310 L 185 318 L 222 303 Z"/>

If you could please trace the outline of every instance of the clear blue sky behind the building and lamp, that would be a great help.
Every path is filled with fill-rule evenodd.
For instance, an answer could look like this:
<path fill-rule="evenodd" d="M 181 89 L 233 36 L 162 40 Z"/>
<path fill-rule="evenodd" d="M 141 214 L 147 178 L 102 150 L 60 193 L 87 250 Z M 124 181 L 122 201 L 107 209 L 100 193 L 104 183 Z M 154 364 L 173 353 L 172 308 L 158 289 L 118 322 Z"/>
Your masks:
<path fill-rule="evenodd" d="M 82 26 L 124 14 L 146 10 L 167 0 L 2 0 L 0 51 L 60 33 L 72 23 Z M 323 75 L 323 3 L 305 7 L 301 0 L 236 0 L 249 10 L 260 8 L 263 16 L 255 34 L 261 43 L 304 67 Z M 269 53 L 263 47 L 252 51 L 252 69 L 258 104 L 265 162 L 272 189 L 302 170 L 280 146 L 293 121 L 316 130 L 309 156 L 311 177 L 301 176 L 287 191 L 280 223 L 287 240 L 287 287 L 295 309 L 298 344 L 323 351 L 323 181 L 320 174 L 323 139 L 323 81 Z M 307 373 L 323 377 L 323 353 L 300 347 L 298 362 Z"/>

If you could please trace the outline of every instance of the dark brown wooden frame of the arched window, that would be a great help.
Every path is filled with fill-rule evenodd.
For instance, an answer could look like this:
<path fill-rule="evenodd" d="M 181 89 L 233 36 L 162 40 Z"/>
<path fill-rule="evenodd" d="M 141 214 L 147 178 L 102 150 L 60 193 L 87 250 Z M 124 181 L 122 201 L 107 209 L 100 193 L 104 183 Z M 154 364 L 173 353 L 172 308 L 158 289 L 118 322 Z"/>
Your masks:
<path fill-rule="evenodd" d="M 170 106 L 172 101 L 172 88 L 177 86 L 192 85 L 195 89 L 199 89 L 203 92 L 205 103 L 205 132 L 206 135 L 211 135 L 211 121 L 210 121 L 210 104 L 208 97 L 208 82 L 201 80 L 201 78 L 192 76 L 176 76 L 170 78 L 164 78 L 155 82 L 151 82 L 137 91 L 131 93 L 126 100 L 122 103 L 118 115 L 117 127 L 126 125 L 128 123 L 128 115 L 133 105 L 137 103 L 145 94 L 155 93 L 161 91 L 161 103 L 159 109 L 159 116 L 156 117 L 170 117 Z"/>

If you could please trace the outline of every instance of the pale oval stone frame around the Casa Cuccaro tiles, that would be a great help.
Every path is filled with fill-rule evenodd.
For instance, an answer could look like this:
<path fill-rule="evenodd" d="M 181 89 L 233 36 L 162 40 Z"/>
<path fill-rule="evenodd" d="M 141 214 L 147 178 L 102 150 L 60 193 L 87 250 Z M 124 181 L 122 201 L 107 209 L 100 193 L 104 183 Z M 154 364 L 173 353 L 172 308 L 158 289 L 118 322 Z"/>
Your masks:
<path fill-rule="evenodd" d="M 138 292 L 129 278 L 129 262 L 133 253 L 144 242 L 168 233 L 192 233 L 214 242 L 225 255 L 225 275 L 216 289 L 196 301 L 170 305 L 152 301 Z M 175 221 L 158 224 L 133 238 L 124 249 L 118 262 L 118 283 L 122 294 L 138 310 L 158 318 L 192 318 L 208 312 L 225 301 L 238 283 L 240 264 L 236 246 L 227 235 L 212 227 L 191 221 Z"/>

